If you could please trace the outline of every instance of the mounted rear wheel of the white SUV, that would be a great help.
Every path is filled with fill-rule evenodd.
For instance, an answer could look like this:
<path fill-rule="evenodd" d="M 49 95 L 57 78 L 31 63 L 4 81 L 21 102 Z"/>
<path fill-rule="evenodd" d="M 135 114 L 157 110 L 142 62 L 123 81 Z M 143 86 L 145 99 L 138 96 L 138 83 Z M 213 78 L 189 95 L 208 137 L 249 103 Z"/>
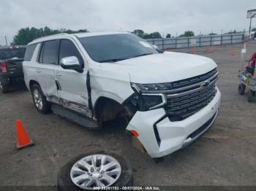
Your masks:
<path fill-rule="evenodd" d="M 42 93 L 41 87 L 39 87 L 39 85 L 32 85 L 31 95 L 33 98 L 34 106 L 37 108 L 38 112 L 41 112 L 42 114 L 47 114 L 50 112 L 50 103 L 46 100 L 45 95 Z M 41 99 L 41 101 L 39 101 L 39 99 Z"/>

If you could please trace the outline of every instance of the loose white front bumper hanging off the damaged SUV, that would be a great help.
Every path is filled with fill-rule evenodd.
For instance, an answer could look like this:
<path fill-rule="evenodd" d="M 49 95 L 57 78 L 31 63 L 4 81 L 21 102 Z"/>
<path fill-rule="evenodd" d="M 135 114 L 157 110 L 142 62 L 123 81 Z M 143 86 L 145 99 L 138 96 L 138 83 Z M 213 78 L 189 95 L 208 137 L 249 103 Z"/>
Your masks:
<path fill-rule="evenodd" d="M 185 120 L 171 122 L 165 117 L 165 109 L 136 112 L 127 130 L 136 130 L 138 139 L 151 157 L 163 157 L 187 147 L 197 140 L 214 123 L 217 117 L 221 93 L 217 88 L 214 99 L 199 112 Z"/>

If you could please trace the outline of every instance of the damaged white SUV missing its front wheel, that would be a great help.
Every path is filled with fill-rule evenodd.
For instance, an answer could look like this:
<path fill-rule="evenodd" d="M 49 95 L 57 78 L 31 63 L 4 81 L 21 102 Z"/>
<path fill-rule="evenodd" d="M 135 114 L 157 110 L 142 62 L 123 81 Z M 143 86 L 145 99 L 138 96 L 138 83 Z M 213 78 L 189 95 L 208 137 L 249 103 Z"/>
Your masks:
<path fill-rule="evenodd" d="M 117 116 L 148 155 L 191 144 L 211 128 L 221 93 L 210 58 L 162 52 L 126 32 L 59 34 L 26 49 L 23 71 L 39 112 L 88 128 Z"/>

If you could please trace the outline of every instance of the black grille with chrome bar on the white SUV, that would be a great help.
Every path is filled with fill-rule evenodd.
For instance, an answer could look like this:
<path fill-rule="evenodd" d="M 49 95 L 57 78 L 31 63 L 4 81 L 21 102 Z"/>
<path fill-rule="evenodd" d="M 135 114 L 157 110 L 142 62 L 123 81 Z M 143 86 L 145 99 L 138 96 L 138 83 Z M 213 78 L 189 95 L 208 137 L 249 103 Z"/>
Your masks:
<path fill-rule="evenodd" d="M 203 109 L 217 93 L 215 82 L 218 71 L 173 82 L 174 90 L 167 93 L 165 110 L 171 121 L 180 121 Z"/>

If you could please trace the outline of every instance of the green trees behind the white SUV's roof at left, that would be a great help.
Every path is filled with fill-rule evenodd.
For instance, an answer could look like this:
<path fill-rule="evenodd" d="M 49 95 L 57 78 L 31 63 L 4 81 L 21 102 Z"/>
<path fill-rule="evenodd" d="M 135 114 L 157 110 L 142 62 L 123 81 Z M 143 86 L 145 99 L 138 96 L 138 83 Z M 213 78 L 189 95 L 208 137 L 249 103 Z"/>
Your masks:
<path fill-rule="evenodd" d="M 49 36 L 52 34 L 60 34 L 60 33 L 81 33 L 81 32 L 88 32 L 87 29 L 80 29 L 78 31 L 72 31 L 66 28 L 61 28 L 60 30 L 53 30 L 49 27 L 45 26 L 45 28 L 34 28 L 34 27 L 27 27 L 21 28 L 13 38 L 12 44 L 14 45 L 26 45 L 34 39 L 38 39 L 42 36 Z"/>

